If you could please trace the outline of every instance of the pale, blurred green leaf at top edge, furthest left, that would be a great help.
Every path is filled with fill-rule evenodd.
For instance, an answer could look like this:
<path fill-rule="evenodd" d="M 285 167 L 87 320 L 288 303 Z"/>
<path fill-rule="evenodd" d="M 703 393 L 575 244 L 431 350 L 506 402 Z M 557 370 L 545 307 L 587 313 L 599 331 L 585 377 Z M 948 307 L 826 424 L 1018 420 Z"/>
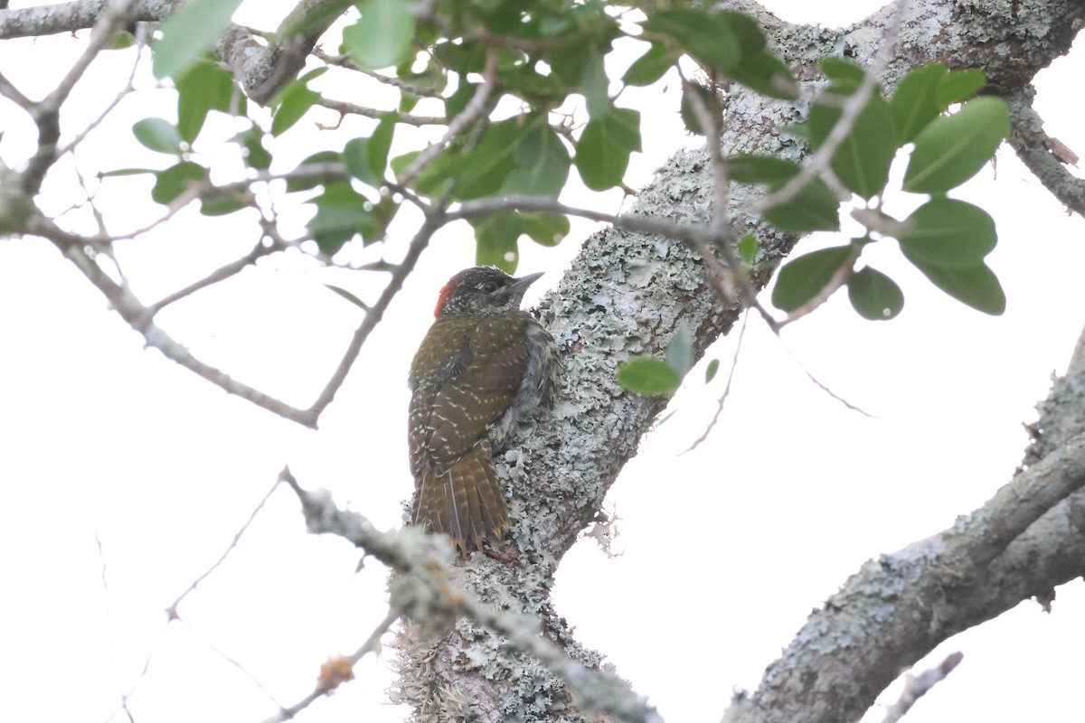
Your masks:
<path fill-rule="evenodd" d="M 192 0 L 162 24 L 154 43 L 155 78 L 175 77 L 222 35 L 241 0 Z"/>

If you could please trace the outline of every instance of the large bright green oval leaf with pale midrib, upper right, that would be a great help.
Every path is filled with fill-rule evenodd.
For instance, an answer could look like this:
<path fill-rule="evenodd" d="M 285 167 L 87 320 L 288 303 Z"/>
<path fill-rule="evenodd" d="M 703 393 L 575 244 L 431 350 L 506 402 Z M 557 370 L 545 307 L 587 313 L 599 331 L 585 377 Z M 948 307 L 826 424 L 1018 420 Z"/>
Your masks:
<path fill-rule="evenodd" d="M 1010 112 L 1000 98 L 976 98 L 935 118 L 916 137 L 904 190 L 945 193 L 960 185 L 991 160 L 1009 130 Z"/>

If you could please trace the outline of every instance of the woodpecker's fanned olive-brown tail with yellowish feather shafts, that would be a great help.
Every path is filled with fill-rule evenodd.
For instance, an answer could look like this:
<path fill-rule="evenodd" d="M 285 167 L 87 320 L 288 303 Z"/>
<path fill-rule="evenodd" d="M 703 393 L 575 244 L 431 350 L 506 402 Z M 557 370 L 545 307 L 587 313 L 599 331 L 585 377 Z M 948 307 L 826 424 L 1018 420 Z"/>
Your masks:
<path fill-rule="evenodd" d="M 430 524 L 452 539 L 467 557 L 470 544 L 482 550 L 486 533 L 500 540 L 509 531 L 509 507 L 485 441 L 443 474 L 423 466 L 411 515 L 414 525 Z"/>

